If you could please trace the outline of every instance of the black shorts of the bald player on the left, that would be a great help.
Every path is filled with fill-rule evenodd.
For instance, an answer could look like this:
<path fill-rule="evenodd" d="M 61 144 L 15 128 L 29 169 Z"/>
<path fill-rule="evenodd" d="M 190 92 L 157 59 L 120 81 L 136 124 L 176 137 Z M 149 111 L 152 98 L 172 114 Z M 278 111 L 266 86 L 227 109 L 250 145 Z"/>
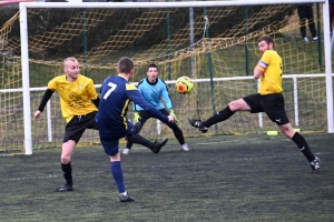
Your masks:
<path fill-rule="evenodd" d="M 98 130 L 97 122 L 95 121 L 96 113 L 90 112 L 82 115 L 75 115 L 65 128 L 62 142 L 73 140 L 78 143 L 86 129 Z"/>

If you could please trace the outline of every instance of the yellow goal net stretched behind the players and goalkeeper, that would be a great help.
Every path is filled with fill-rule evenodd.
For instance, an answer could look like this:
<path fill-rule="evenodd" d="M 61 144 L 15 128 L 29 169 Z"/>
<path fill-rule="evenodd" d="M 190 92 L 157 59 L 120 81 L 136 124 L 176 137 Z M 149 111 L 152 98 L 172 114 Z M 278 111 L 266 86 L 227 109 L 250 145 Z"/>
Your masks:
<path fill-rule="evenodd" d="M 53 93 L 39 120 L 33 120 L 33 113 L 48 82 L 63 74 L 62 61 L 68 57 L 78 59 L 80 73 L 94 80 L 97 91 L 108 75 L 116 74 L 121 57 L 135 61 L 132 82 L 145 78 L 147 65 L 156 63 L 159 77 L 168 84 L 178 125 L 186 137 L 200 137 L 186 118 L 205 120 L 229 101 L 257 92 L 253 69 L 261 58 L 257 39 L 263 34 L 274 38 L 275 49 L 283 58 L 284 97 L 293 127 L 302 132 L 327 131 L 324 46 L 330 39 L 324 37 L 328 30 L 324 30 L 321 1 L 313 4 L 313 22 L 320 41 L 312 41 L 307 22 L 301 24 L 295 3 L 33 2 L 20 6 L 20 9 L 0 9 L 3 14 L 0 23 L 1 153 L 27 153 L 27 140 L 35 149 L 61 144 L 66 122 L 59 95 Z M 24 22 L 27 42 L 22 33 Z M 303 41 L 301 26 L 306 26 L 308 42 Z M 175 90 L 175 80 L 180 75 L 195 81 L 194 90 L 187 95 Z M 128 115 L 132 119 L 131 107 Z M 205 135 L 262 134 L 273 129 L 276 125 L 266 114 L 239 112 L 213 125 Z M 31 141 L 27 139 L 29 133 Z M 148 139 L 173 138 L 171 130 L 155 119 L 144 125 L 141 134 Z M 85 132 L 79 144 L 87 143 L 99 143 L 96 131 Z"/>

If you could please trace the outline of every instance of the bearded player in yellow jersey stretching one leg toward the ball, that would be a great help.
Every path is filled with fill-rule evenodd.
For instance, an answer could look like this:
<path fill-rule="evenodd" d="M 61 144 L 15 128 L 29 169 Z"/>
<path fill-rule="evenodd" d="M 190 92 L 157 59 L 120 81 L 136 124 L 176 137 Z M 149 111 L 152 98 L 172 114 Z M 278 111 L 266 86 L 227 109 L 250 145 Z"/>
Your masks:
<path fill-rule="evenodd" d="M 205 133 L 210 125 L 227 120 L 237 111 L 265 112 L 279 130 L 296 143 L 308 160 L 312 172 L 316 173 L 320 171 L 320 159 L 311 152 L 304 137 L 293 129 L 286 115 L 282 94 L 282 58 L 275 51 L 274 41 L 269 36 L 261 37 L 257 42 L 262 58 L 254 68 L 254 78 L 261 81 L 259 93 L 229 102 L 224 110 L 206 121 L 190 118 L 188 118 L 188 121 L 193 127 Z"/>

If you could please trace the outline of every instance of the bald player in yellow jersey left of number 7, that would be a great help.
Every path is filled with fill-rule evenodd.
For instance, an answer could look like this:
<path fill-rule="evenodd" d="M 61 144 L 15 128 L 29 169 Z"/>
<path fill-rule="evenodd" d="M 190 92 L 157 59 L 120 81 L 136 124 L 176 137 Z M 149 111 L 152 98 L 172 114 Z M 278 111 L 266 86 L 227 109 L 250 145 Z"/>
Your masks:
<path fill-rule="evenodd" d="M 35 112 L 35 118 L 38 119 L 53 92 L 59 93 L 61 113 L 67 122 L 61 148 L 61 170 L 66 184 L 57 189 L 59 192 L 73 190 L 71 155 L 86 129 L 98 130 L 95 118 L 100 102 L 94 81 L 79 74 L 79 62 L 75 58 L 63 60 L 63 72 L 65 74 L 49 81 L 48 89 Z M 129 140 L 149 148 L 155 153 L 166 144 L 166 140 L 153 143 L 139 134 Z"/>

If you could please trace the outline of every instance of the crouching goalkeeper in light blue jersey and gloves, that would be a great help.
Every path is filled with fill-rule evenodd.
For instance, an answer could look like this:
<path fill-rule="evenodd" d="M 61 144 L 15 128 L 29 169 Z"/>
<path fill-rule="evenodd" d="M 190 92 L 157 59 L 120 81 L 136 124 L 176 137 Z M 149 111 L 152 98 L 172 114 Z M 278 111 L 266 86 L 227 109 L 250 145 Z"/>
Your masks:
<path fill-rule="evenodd" d="M 138 83 L 138 90 L 141 93 L 143 98 L 151 104 L 154 108 L 159 110 L 164 115 L 173 115 L 175 122 L 166 123 L 174 132 L 175 138 L 178 140 L 183 151 L 189 151 L 187 143 L 185 142 L 184 133 L 176 124 L 176 117 L 173 110 L 173 102 L 168 93 L 166 83 L 158 78 L 158 68 L 156 64 L 149 64 L 147 68 L 147 78 L 143 79 Z M 166 107 L 169 109 L 169 112 L 165 109 L 165 105 L 161 102 L 164 100 Z M 153 115 L 145 111 L 139 105 L 135 104 L 135 119 L 134 122 L 140 122 L 141 128 L 144 123 Z M 141 129 L 140 128 L 140 129 Z M 124 149 L 122 153 L 128 154 L 132 147 L 132 142 L 128 141 L 127 147 Z"/>

